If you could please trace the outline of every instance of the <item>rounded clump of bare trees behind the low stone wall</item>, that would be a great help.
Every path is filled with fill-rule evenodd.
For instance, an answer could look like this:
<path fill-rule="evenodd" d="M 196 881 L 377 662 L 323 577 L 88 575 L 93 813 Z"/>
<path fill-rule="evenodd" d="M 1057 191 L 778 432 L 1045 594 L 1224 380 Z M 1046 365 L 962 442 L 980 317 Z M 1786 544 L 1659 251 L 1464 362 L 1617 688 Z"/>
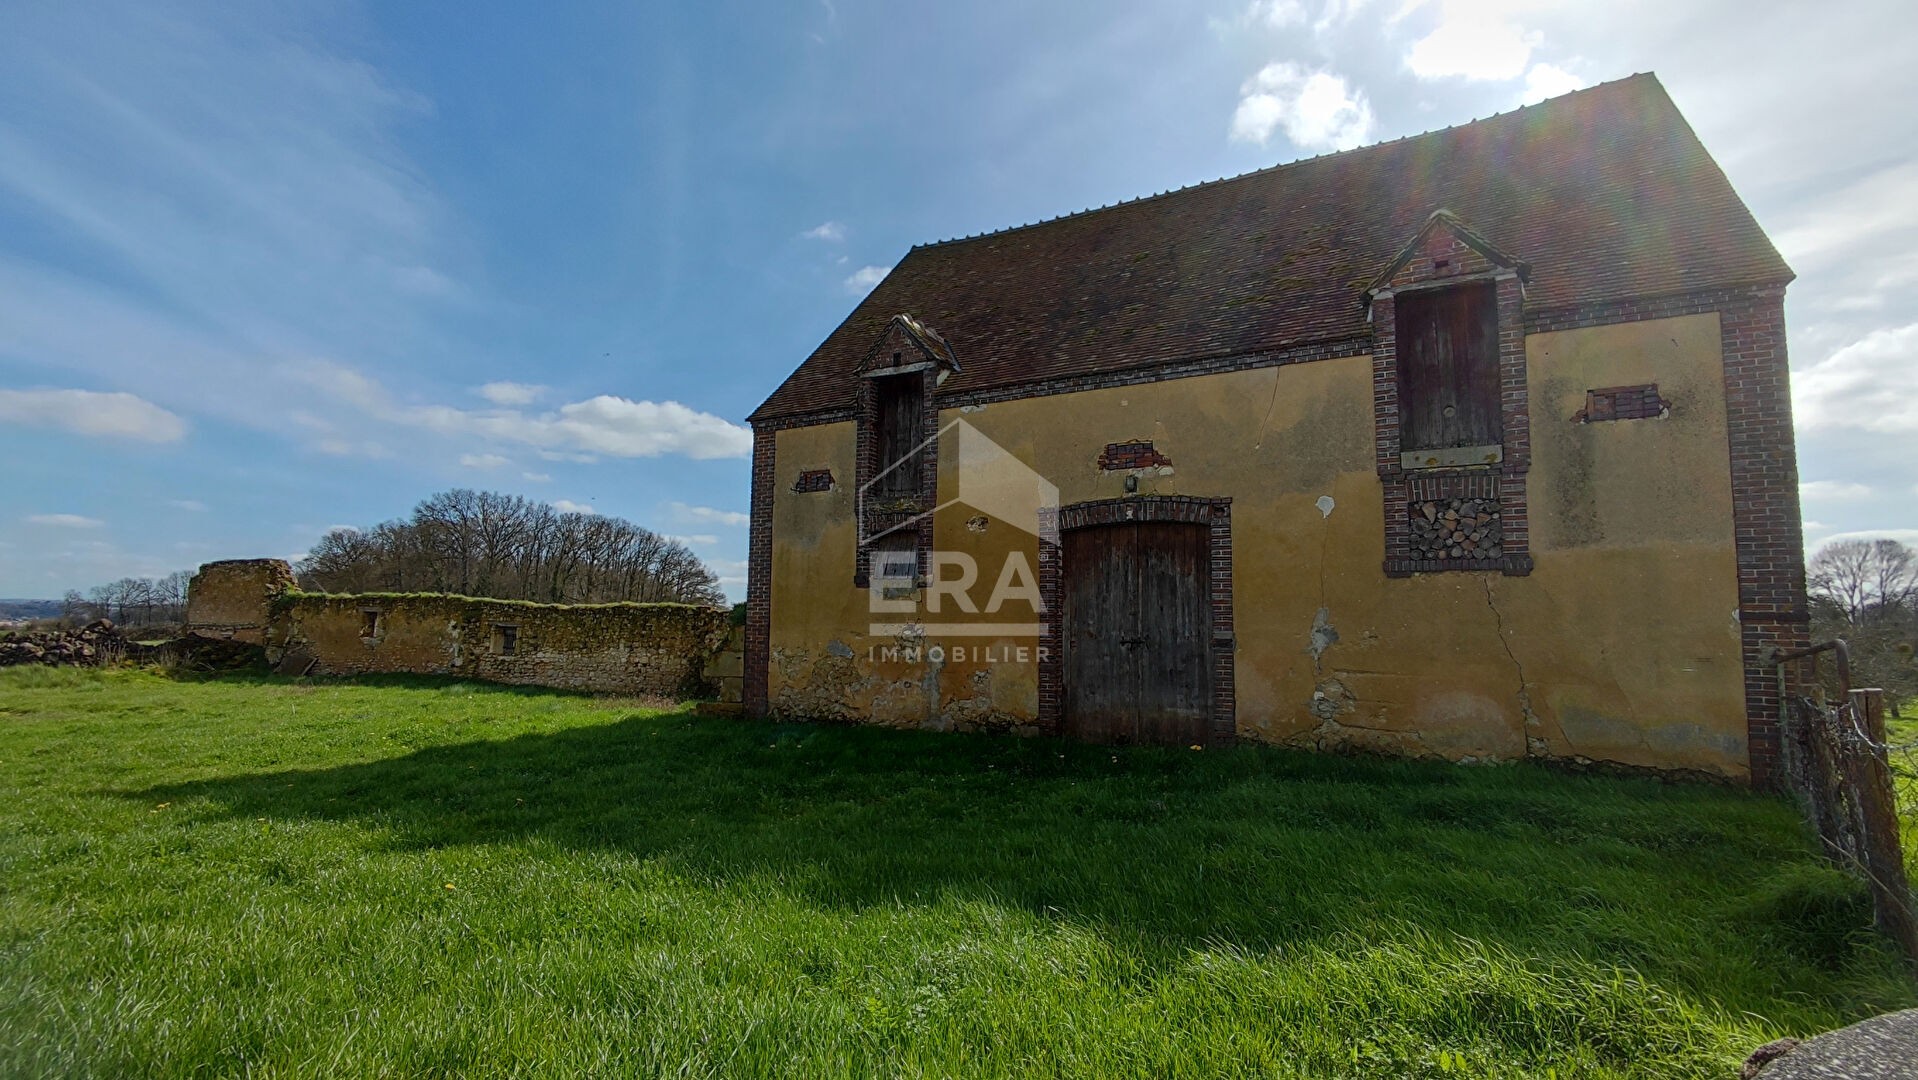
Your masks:
<path fill-rule="evenodd" d="M 723 604 L 687 545 L 602 514 L 495 491 L 441 491 L 410 518 L 332 529 L 293 568 L 322 593 L 456 593 L 545 604 Z"/>

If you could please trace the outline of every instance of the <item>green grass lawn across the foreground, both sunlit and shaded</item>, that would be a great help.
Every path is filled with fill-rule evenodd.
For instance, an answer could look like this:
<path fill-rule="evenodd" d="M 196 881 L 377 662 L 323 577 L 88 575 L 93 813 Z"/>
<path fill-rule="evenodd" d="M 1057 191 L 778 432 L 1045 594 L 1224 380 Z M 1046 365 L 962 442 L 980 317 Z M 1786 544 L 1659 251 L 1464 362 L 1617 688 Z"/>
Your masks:
<path fill-rule="evenodd" d="M 0 1076 L 1730 1076 L 1868 923 L 1730 788 L 0 671 Z"/>

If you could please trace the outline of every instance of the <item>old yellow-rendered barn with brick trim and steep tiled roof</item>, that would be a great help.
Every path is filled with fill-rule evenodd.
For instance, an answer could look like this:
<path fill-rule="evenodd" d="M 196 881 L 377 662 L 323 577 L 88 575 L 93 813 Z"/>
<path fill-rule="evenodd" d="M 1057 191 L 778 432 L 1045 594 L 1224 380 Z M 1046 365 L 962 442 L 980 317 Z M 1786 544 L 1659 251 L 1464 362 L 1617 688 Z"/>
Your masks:
<path fill-rule="evenodd" d="M 1765 781 L 1789 280 L 1651 75 L 913 247 L 752 414 L 746 704 Z"/>

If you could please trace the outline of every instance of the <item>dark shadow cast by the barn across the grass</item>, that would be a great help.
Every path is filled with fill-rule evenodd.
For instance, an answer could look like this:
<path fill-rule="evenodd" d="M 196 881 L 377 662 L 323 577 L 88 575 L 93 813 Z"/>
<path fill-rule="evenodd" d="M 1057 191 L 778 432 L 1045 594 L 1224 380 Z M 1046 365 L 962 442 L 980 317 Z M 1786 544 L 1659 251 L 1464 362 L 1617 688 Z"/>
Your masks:
<path fill-rule="evenodd" d="M 1747 982 L 1770 969 L 1755 982 L 1776 986 L 1805 959 L 1882 963 L 1853 932 L 1857 890 L 1832 884 L 1786 802 L 1538 767 L 675 712 L 127 794 L 207 798 L 234 819 L 364 823 L 405 850 L 625 852 L 692 880 L 771 879 L 832 907 L 990 898 L 1097 923 L 1162 961 L 1222 940 L 1266 950 L 1417 927 L 1634 965 L 1705 996 L 1719 969 Z M 1805 875 L 1836 900 L 1793 915 L 1772 882 Z"/>

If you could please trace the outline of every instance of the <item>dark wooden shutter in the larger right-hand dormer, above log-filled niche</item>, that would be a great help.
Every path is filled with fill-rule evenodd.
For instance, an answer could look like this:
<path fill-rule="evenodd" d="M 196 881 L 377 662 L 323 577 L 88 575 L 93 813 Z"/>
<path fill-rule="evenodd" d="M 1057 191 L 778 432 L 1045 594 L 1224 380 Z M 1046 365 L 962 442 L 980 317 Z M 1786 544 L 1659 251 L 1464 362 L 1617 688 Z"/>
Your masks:
<path fill-rule="evenodd" d="M 1492 286 L 1400 293 L 1396 311 L 1404 449 L 1496 445 L 1504 422 Z"/>

